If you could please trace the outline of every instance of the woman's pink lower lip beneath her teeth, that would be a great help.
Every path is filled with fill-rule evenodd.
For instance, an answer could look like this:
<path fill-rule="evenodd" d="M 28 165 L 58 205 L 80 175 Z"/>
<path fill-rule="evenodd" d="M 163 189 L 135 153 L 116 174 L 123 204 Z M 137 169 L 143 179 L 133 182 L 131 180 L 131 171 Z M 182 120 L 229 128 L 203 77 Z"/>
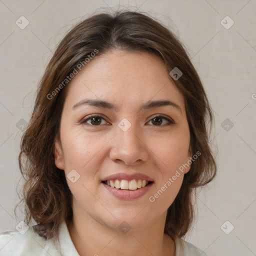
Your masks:
<path fill-rule="evenodd" d="M 117 188 L 108 186 L 102 182 L 101 184 L 107 189 L 107 191 L 109 191 L 115 197 L 122 200 L 131 200 L 131 199 L 139 198 L 142 195 L 144 195 L 150 189 L 153 182 L 144 187 L 137 188 L 136 190 L 117 189 Z"/>

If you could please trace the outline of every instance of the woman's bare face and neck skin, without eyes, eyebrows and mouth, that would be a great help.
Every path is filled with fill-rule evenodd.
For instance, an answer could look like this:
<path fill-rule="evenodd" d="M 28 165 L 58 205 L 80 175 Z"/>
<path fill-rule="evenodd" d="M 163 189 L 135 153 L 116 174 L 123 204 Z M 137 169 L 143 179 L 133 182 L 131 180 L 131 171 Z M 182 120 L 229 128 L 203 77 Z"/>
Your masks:
<path fill-rule="evenodd" d="M 175 242 L 163 233 L 164 222 L 190 166 L 154 202 L 148 199 L 191 156 L 184 98 L 164 63 L 144 51 L 112 50 L 94 57 L 68 86 L 54 155 L 65 175 L 72 169 L 80 175 L 74 183 L 66 179 L 73 198 L 73 223 L 67 226 L 77 252 L 81 256 L 175 255 Z M 118 108 L 84 104 L 72 109 L 85 98 L 107 100 Z M 166 99 L 181 110 L 169 105 L 140 109 L 148 100 Z M 90 114 L 103 118 L 96 124 L 91 119 L 87 125 L 80 122 Z M 160 122 L 153 121 L 157 114 L 176 123 L 167 125 L 163 118 L 157 125 Z M 118 126 L 123 118 L 131 124 L 127 131 Z M 140 172 L 154 183 L 143 196 L 121 200 L 101 184 L 117 172 Z M 131 227 L 125 234 L 118 229 L 123 221 Z"/>

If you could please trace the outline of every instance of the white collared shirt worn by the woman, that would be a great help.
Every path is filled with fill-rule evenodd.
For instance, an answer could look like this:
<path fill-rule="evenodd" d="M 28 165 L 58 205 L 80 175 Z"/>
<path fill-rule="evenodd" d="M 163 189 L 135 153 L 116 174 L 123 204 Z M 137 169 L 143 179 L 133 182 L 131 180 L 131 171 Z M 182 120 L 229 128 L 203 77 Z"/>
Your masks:
<path fill-rule="evenodd" d="M 175 256 L 207 256 L 193 244 L 177 238 Z M 95 251 L 94 255 L 100 255 Z M 65 222 L 62 222 L 58 240 L 46 240 L 29 226 L 22 234 L 18 231 L 0 233 L 0 256 L 79 256 L 69 235 Z"/>

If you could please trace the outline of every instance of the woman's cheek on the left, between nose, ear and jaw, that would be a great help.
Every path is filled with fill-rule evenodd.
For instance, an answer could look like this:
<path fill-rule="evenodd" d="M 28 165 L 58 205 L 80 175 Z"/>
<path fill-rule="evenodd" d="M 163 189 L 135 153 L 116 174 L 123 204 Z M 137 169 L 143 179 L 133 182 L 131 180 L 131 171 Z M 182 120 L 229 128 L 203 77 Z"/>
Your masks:
<path fill-rule="evenodd" d="M 108 140 L 98 137 L 95 132 L 75 129 L 62 132 L 64 172 L 69 189 L 77 200 L 86 198 L 93 203 L 95 198 L 91 193 L 96 194 L 99 185 L 98 170 L 107 157 L 104 145 Z M 70 178 L 73 176 L 75 178 Z"/>

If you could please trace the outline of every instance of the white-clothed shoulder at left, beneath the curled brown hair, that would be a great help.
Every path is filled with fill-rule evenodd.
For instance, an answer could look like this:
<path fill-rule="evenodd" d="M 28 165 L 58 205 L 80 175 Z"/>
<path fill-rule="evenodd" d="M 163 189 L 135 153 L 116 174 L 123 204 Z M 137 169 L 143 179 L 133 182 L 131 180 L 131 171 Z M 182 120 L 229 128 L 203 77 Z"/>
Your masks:
<path fill-rule="evenodd" d="M 0 256 L 21 255 L 61 256 L 51 239 L 46 240 L 37 234 L 33 226 L 23 231 L 5 231 L 0 233 Z"/>

